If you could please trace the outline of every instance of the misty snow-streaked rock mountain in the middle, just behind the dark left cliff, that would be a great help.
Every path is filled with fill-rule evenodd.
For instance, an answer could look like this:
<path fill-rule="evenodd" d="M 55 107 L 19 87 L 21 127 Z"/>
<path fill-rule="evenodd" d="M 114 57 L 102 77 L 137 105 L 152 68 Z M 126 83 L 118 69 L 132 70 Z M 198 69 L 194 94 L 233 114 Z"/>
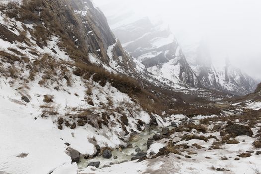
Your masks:
<path fill-rule="evenodd" d="M 161 21 L 153 24 L 147 17 L 133 23 L 113 23 L 114 21 L 115 18 L 109 20 L 116 37 L 149 72 L 174 83 L 184 82 L 193 87 L 201 87 L 173 34 Z"/>

